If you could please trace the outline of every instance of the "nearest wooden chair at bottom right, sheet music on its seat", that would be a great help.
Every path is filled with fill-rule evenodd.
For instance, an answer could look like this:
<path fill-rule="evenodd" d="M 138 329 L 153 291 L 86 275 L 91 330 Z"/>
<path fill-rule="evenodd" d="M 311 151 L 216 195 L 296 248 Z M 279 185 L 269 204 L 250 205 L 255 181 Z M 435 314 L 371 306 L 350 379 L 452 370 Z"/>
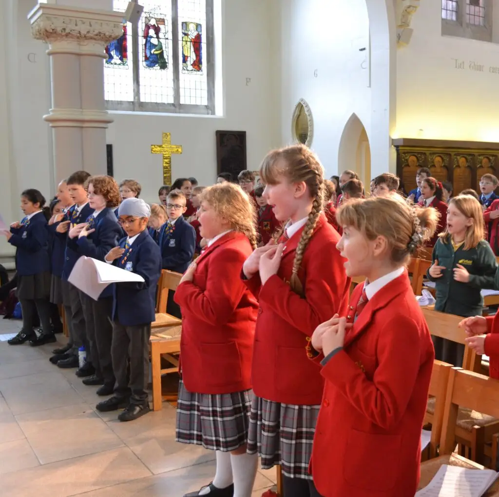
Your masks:
<path fill-rule="evenodd" d="M 461 368 L 451 369 L 440 440 L 440 457 L 422 463 L 419 489 L 426 487 L 444 464 L 476 470 L 484 469 L 484 466 L 475 461 L 453 453 L 456 447 L 456 427 L 460 408 L 487 413 L 491 417 L 499 418 L 499 381 L 473 371 Z M 485 495 L 498 497 L 499 482 L 496 482 Z"/>

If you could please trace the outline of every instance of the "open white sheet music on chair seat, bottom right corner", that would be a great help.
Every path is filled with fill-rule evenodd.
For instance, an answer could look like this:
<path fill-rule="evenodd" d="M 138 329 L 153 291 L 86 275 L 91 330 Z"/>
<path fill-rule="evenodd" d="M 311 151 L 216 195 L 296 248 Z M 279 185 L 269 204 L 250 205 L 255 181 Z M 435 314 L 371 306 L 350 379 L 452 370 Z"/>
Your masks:
<path fill-rule="evenodd" d="M 443 465 L 428 486 L 416 492 L 416 497 L 481 497 L 498 476 L 492 470 Z"/>

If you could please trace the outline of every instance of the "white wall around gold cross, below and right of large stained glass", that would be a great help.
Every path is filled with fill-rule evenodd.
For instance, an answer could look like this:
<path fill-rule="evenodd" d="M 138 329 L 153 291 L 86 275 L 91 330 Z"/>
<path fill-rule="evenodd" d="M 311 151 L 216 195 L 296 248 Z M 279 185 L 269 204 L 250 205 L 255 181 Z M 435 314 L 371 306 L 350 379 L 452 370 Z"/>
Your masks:
<path fill-rule="evenodd" d="M 258 169 L 265 153 L 280 145 L 271 11 L 267 0 L 222 3 L 223 115 L 113 112 L 107 142 L 113 144 L 116 179 L 139 179 L 144 199 L 157 201 L 162 158 L 151 154 L 151 145 L 161 144 L 162 132 L 170 132 L 172 143 L 183 146 L 182 155 L 172 158 L 173 179 L 194 176 L 202 185 L 215 182 L 216 130 L 246 131 L 248 168 Z"/>

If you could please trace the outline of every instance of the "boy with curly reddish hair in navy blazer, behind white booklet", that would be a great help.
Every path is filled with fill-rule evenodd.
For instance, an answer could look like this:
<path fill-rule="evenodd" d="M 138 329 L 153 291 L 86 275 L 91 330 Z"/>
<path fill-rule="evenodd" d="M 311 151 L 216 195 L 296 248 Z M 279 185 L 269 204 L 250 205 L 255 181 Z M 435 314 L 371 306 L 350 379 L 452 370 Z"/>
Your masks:
<path fill-rule="evenodd" d="M 94 210 L 86 222 L 69 231 L 68 247 L 79 255 L 100 261 L 118 245 L 122 230 L 113 212 L 119 204 L 120 193 L 111 176 L 91 176 L 86 182 L 88 203 Z M 97 395 L 110 395 L 114 390 L 114 373 L 111 361 L 113 334 L 111 313 L 113 289 L 107 287 L 98 300 L 80 292 L 85 313 L 86 334 L 95 372 L 83 380 L 84 385 L 102 385 Z"/>

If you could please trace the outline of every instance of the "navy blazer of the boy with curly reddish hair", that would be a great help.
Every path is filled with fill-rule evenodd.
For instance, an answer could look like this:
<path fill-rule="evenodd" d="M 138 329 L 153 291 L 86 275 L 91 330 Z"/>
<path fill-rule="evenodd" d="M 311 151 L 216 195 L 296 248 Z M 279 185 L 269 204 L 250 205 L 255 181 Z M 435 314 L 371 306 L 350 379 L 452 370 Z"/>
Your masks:
<path fill-rule="evenodd" d="M 92 259 L 104 261 L 106 254 L 118 245 L 118 240 L 122 235 L 121 226 L 118 224 L 113 210 L 109 207 L 99 212 L 95 220 L 90 221 L 91 217 L 90 215 L 86 221 L 90 222 L 95 231 L 88 236 L 68 238 L 67 244 L 80 256 L 85 255 L 86 257 L 92 257 Z M 100 294 L 99 298 L 111 297 L 112 295 L 113 288 L 112 285 L 109 285 Z"/>

